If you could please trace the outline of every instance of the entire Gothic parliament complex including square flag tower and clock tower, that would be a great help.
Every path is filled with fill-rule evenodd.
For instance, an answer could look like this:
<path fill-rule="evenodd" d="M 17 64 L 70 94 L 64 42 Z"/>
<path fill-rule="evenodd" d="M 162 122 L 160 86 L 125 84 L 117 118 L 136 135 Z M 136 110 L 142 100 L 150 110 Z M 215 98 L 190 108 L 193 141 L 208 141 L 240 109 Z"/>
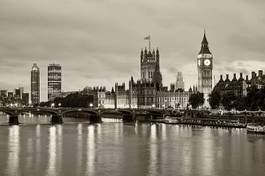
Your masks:
<path fill-rule="evenodd" d="M 86 94 L 93 93 L 95 107 L 102 108 L 186 108 L 190 94 L 200 91 L 205 99 L 212 89 L 212 54 L 208 48 L 208 41 L 204 33 L 201 50 L 198 53 L 198 88 L 185 90 L 182 73 L 177 75 L 176 82 L 170 87 L 164 86 L 160 72 L 160 52 L 149 48 L 140 51 L 140 79 L 133 77 L 125 83 L 115 83 L 111 91 L 105 87 L 86 87 Z"/>

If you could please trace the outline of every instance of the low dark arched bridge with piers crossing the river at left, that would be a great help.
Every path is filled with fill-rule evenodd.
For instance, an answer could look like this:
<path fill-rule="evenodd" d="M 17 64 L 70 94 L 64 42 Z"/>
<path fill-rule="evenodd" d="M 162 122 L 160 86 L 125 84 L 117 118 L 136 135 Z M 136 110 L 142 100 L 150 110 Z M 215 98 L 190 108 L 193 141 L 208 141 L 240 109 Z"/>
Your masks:
<path fill-rule="evenodd" d="M 63 118 L 73 113 L 88 114 L 91 123 L 101 123 L 102 117 L 112 115 L 115 118 L 122 119 L 124 122 L 133 122 L 136 117 L 142 119 L 164 118 L 169 111 L 162 109 L 93 109 L 93 108 L 47 108 L 47 107 L 0 107 L 9 117 L 10 125 L 19 124 L 19 115 L 31 113 L 34 115 L 50 115 L 51 124 L 62 124 Z"/>

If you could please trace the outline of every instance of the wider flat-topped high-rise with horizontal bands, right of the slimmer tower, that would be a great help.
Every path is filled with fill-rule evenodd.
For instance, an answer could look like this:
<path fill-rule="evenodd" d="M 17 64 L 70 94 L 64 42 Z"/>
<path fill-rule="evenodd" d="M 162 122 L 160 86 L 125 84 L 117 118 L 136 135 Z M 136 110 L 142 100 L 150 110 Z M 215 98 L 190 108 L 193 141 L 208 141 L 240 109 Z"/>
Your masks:
<path fill-rule="evenodd" d="M 62 67 L 59 64 L 48 66 L 48 100 L 56 98 L 62 89 Z"/>

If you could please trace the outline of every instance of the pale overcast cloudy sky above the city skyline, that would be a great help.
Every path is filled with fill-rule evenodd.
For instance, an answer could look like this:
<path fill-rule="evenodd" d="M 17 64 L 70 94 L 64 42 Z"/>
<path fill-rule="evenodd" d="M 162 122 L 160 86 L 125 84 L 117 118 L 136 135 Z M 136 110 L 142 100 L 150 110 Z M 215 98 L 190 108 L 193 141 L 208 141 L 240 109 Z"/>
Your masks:
<path fill-rule="evenodd" d="M 1 0 L 0 89 L 25 87 L 41 71 L 47 100 L 47 66 L 62 65 L 63 91 L 106 86 L 140 77 L 140 50 L 160 51 L 163 84 L 183 73 L 197 84 L 203 31 L 213 74 L 265 70 L 264 0 Z M 231 76 L 230 76 L 231 77 Z"/>

